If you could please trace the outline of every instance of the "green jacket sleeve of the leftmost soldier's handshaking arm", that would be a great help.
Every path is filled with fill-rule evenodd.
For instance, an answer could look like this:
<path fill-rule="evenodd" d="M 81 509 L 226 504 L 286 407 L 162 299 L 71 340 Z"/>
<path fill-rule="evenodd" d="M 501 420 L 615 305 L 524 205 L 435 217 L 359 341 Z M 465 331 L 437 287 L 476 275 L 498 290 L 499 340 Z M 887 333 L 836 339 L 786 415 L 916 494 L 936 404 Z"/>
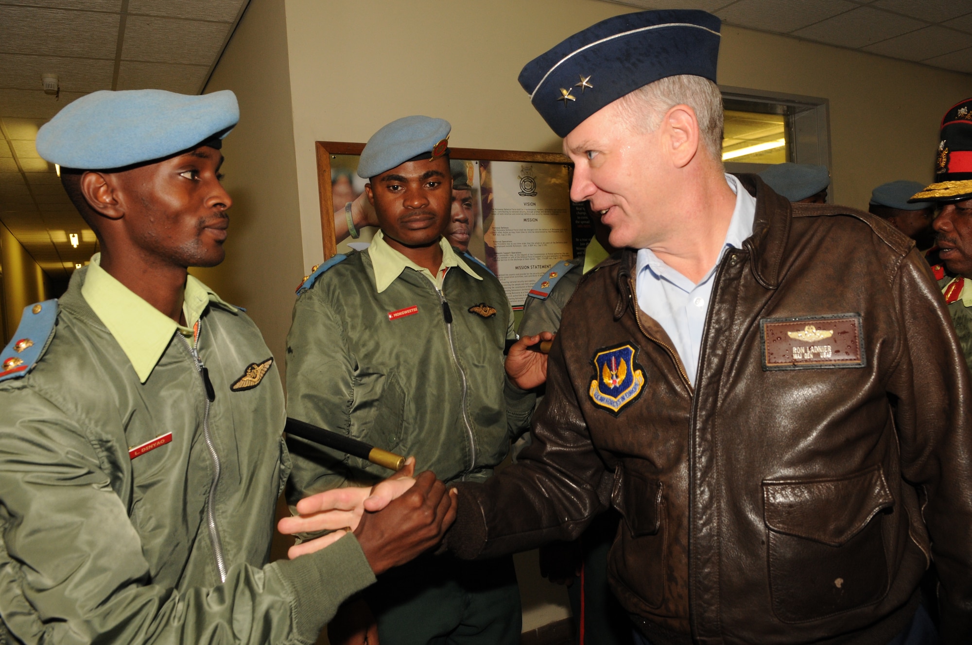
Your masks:
<path fill-rule="evenodd" d="M 231 566 L 211 588 L 154 585 L 108 474 L 124 465 L 37 392 L 0 391 L 0 408 L 0 615 L 17 642 L 309 644 L 374 581 L 348 536 L 296 560 Z"/>

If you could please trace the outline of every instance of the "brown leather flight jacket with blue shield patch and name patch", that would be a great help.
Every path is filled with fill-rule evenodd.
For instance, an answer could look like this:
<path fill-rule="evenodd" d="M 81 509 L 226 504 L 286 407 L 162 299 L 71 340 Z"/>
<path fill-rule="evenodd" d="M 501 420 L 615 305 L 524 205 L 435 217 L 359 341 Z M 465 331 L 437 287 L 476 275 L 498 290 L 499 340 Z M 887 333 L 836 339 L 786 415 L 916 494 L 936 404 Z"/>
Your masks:
<path fill-rule="evenodd" d="M 716 269 L 694 390 L 636 254 L 608 258 L 564 311 L 533 445 L 459 485 L 446 547 L 570 540 L 613 506 L 609 580 L 655 645 L 885 645 L 934 560 L 945 642 L 972 643 L 972 396 L 941 293 L 884 221 L 741 179 L 753 234 Z"/>

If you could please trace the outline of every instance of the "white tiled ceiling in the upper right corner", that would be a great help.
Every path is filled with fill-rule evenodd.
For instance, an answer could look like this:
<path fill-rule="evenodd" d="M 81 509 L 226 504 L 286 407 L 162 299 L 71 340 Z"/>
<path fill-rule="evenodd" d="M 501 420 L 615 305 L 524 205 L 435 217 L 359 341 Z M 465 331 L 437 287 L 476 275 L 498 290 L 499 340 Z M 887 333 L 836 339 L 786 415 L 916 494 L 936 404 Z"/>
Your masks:
<path fill-rule="evenodd" d="M 972 0 L 607 0 L 972 74 Z"/>

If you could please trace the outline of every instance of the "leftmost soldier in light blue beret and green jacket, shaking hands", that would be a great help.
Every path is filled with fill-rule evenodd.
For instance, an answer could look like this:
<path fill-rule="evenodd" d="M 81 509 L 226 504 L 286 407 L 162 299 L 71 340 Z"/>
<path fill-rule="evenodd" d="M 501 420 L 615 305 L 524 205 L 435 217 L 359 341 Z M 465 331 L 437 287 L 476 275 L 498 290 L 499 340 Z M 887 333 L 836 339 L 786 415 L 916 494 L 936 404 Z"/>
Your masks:
<path fill-rule="evenodd" d="M 98 91 L 38 133 L 101 253 L 0 353 L 0 642 L 313 642 L 450 522 L 427 473 L 357 538 L 267 564 L 290 470 L 277 366 L 187 274 L 224 257 L 238 118 L 229 91 Z"/>

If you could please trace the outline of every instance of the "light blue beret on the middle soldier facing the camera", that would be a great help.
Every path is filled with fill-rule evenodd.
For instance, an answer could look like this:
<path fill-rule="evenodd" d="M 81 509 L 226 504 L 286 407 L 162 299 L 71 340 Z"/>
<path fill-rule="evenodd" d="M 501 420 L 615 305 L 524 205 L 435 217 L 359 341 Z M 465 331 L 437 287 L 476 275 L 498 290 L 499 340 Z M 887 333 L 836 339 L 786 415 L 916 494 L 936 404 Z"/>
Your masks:
<path fill-rule="evenodd" d="M 377 177 L 419 154 L 441 156 L 445 153 L 452 125 L 445 119 L 402 117 L 371 135 L 358 161 L 358 176 Z M 433 155 L 433 152 L 436 154 Z"/>

